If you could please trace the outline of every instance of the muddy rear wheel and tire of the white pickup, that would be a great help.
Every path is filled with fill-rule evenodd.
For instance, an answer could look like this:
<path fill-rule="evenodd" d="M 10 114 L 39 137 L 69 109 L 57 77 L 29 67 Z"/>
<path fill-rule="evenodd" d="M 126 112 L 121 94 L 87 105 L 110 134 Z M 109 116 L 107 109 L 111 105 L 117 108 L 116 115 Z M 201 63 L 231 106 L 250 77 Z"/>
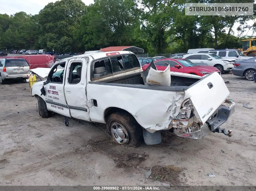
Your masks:
<path fill-rule="evenodd" d="M 107 119 L 106 128 L 111 139 L 120 145 L 136 148 L 141 144 L 141 126 L 129 113 L 112 113 Z"/>

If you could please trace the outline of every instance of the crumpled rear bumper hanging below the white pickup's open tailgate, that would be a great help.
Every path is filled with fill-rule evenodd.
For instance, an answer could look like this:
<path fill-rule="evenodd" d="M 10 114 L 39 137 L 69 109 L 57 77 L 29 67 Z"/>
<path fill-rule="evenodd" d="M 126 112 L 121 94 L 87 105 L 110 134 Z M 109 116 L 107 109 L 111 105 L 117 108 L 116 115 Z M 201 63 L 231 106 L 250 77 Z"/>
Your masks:
<path fill-rule="evenodd" d="M 174 133 L 178 137 L 187 137 L 192 139 L 200 139 L 211 132 L 215 132 L 220 126 L 225 123 L 229 116 L 235 111 L 235 103 L 231 100 L 225 100 L 220 107 L 209 117 L 209 119 L 201 126 L 201 129 L 196 132 L 186 132 L 186 129 L 175 129 Z"/>

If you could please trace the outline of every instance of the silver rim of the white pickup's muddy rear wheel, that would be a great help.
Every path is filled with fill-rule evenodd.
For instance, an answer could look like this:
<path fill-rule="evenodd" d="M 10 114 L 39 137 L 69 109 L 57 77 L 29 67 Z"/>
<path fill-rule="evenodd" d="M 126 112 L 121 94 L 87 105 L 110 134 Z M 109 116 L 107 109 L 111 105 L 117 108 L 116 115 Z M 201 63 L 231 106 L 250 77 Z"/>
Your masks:
<path fill-rule="evenodd" d="M 128 132 L 120 123 L 113 123 L 111 125 L 111 134 L 119 144 L 123 145 L 129 142 Z"/>

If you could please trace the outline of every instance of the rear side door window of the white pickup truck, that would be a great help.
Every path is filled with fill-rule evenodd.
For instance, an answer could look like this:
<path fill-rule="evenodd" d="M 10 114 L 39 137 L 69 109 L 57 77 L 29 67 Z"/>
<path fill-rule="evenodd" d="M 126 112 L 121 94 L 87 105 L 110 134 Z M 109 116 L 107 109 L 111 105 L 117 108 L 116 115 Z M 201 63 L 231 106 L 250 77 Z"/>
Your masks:
<path fill-rule="evenodd" d="M 69 75 L 68 75 L 68 83 L 69 84 L 77 84 L 81 81 L 81 71 L 82 71 L 82 63 L 81 62 L 72 62 L 70 65 Z"/>

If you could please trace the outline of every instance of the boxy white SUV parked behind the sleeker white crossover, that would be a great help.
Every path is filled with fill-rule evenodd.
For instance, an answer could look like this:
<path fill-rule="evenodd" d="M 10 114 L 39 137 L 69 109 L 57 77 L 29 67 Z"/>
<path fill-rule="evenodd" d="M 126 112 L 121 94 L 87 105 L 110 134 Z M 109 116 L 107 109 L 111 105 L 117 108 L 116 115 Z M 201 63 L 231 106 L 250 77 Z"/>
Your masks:
<path fill-rule="evenodd" d="M 235 60 L 248 60 L 250 56 L 244 56 L 241 50 L 237 49 L 218 49 L 218 50 L 209 50 L 209 53 L 217 54 L 221 58 L 231 58 Z"/>

